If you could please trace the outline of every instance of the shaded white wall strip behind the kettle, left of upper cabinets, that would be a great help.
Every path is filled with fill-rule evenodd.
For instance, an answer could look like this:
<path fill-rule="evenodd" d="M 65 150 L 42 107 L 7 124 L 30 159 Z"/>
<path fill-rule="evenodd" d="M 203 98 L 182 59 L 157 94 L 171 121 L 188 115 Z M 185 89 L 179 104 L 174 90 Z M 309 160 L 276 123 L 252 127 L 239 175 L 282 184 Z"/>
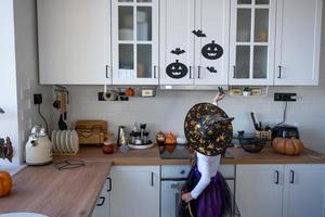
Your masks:
<path fill-rule="evenodd" d="M 38 107 L 34 105 L 34 93 L 42 93 L 41 112 L 52 120 L 51 86 L 40 86 L 38 78 L 38 46 L 37 46 L 37 15 L 36 0 L 14 0 L 15 23 L 15 55 L 17 76 L 18 105 L 18 142 L 20 162 L 24 162 L 24 146 L 34 125 L 44 125 L 38 115 Z M 51 126 L 51 122 L 49 126 Z"/>

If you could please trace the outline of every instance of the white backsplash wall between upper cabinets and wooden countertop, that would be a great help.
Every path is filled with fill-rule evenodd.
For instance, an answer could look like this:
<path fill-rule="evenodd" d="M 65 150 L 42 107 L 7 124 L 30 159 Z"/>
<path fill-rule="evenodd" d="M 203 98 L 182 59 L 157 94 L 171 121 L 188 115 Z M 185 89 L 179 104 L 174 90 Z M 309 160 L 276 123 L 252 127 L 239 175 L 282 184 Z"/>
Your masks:
<path fill-rule="evenodd" d="M 325 4 L 324 4 L 325 5 Z M 325 9 L 324 9 L 325 11 Z M 283 118 L 283 102 L 274 102 L 274 91 L 297 92 L 298 101 L 288 104 L 287 124 L 299 127 L 304 144 L 325 153 L 325 15 L 323 16 L 321 76 L 318 87 L 271 88 L 265 98 L 226 97 L 220 106 L 234 116 L 234 129 L 252 131 L 250 112 L 263 123 L 276 124 Z M 118 125 L 147 123 L 153 133 L 158 130 L 183 133 L 186 112 L 198 102 L 211 102 L 212 91 L 158 91 L 153 99 L 131 99 L 129 102 L 99 102 L 99 86 L 70 86 L 70 120 L 105 119 L 116 133 Z M 56 119 L 54 120 L 56 123 Z M 56 127 L 56 124 L 55 124 Z M 57 128 L 57 127 L 56 127 Z"/>

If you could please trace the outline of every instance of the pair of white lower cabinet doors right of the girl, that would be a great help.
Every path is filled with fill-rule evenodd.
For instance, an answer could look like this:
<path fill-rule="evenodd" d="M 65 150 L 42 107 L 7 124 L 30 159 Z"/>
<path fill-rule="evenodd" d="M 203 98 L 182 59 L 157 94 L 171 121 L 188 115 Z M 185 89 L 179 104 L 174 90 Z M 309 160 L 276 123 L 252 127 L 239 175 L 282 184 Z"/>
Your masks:
<path fill-rule="evenodd" d="M 237 165 L 242 217 L 325 217 L 325 165 Z"/>

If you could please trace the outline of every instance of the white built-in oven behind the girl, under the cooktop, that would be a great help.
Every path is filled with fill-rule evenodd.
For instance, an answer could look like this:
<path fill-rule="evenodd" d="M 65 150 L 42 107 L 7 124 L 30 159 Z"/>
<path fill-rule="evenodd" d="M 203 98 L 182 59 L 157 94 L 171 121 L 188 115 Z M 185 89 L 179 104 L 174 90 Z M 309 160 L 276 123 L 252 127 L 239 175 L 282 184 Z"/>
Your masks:
<path fill-rule="evenodd" d="M 160 217 L 178 217 L 178 204 L 181 189 L 191 170 L 190 165 L 162 165 L 160 177 Z M 223 175 L 235 197 L 235 165 L 220 165 Z"/>

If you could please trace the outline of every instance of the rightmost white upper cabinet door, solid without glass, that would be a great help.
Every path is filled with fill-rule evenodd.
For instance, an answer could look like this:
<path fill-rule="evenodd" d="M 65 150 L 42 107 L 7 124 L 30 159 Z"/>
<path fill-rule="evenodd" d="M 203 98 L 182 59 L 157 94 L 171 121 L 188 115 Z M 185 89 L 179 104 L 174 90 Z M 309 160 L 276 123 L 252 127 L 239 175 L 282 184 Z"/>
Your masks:
<path fill-rule="evenodd" d="M 322 0 L 278 0 L 274 85 L 318 85 Z"/>

